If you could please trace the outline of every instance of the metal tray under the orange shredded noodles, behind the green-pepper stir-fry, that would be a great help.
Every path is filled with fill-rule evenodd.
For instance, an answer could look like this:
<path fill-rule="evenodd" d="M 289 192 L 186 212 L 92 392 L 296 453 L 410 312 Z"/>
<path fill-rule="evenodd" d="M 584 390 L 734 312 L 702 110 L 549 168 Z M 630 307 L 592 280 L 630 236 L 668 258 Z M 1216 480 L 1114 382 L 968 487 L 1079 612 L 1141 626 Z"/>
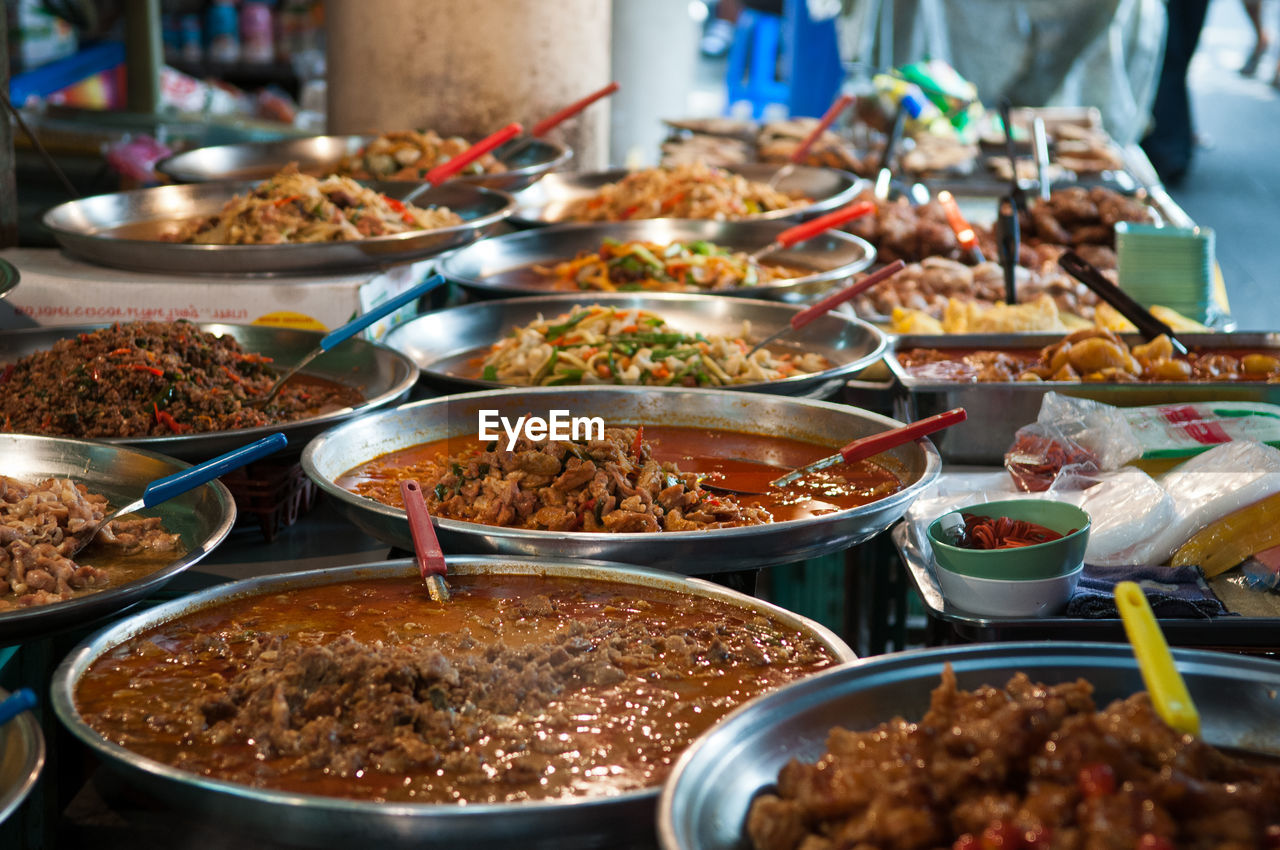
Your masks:
<path fill-rule="evenodd" d="M 768 183 L 781 165 L 735 165 L 726 170 L 741 174 L 749 180 Z M 516 195 L 516 211 L 511 216 L 513 224 L 538 227 L 563 221 L 564 204 L 573 198 L 594 195 L 605 183 L 617 183 L 630 174 L 625 168 L 607 172 L 575 172 L 570 174 L 548 174 L 545 178 Z M 813 198 L 813 204 L 790 210 L 774 210 L 753 215 L 750 220 L 803 219 L 827 210 L 835 210 L 852 201 L 863 189 L 865 182 L 833 168 L 796 168 L 778 183 L 782 192 L 800 192 Z"/>

